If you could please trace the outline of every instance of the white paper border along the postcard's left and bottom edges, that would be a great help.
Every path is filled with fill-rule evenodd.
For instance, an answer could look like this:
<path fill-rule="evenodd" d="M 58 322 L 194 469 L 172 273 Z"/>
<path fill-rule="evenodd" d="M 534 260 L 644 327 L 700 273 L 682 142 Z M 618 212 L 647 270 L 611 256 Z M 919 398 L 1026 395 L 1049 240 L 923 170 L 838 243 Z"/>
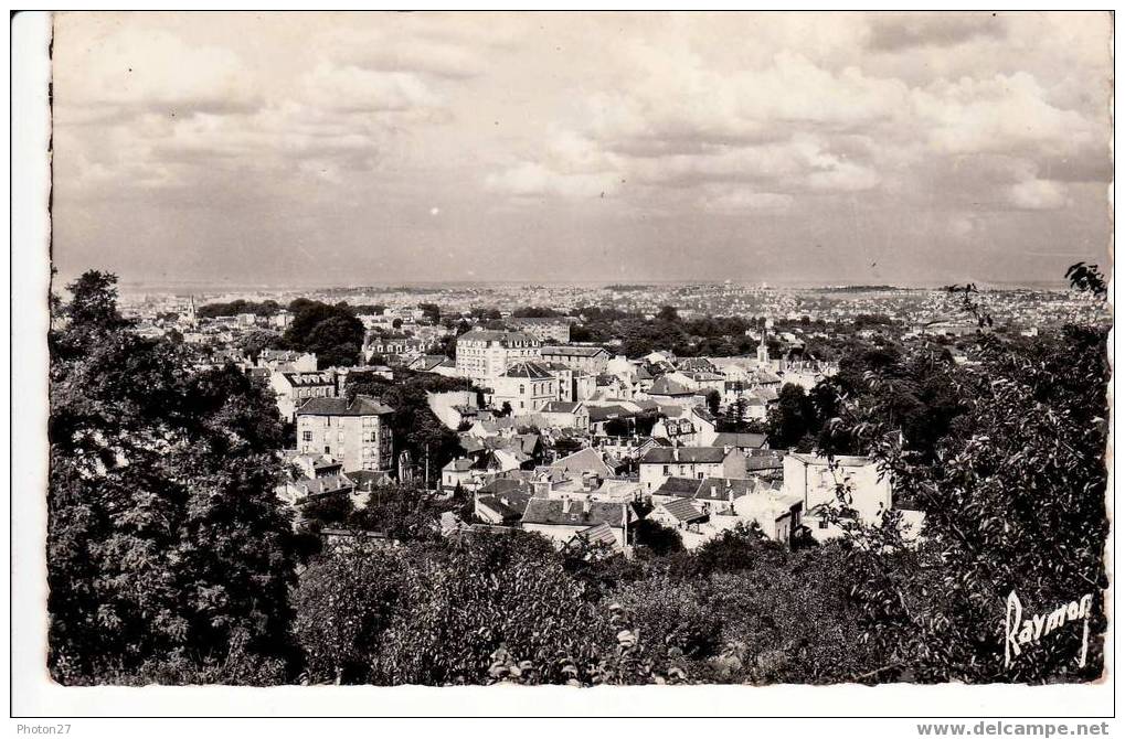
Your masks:
<path fill-rule="evenodd" d="M 420 3 L 424 4 L 424 3 Z M 504 4 L 504 3 L 501 3 Z M 15 357 L 14 376 L 19 378 L 11 396 L 12 428 L 18 430 L 11 448 L 11 542 L 12 628 L 11 645 L 15 715 L 24 717 L 278 717 L 278 715 L 1040 715 L 1106 717 L 1113 712 L 1113 629 L 1108 635 L 1109 676 L 1097 685 L 1058 686 L 964 686 L 964 685 L 883 685 L 865 687 L 837 685 L 810 686 L 693 686 L 693 687 L 611 687 L 576 690 L 568 687 L 520 688 L 511 686 L 459 688 L 227 688 L 227 687 L 146 687 L 73 688 L 61 687 L 46 676 L 45 654 L 45 507 L 46 454 L 46 347 L 45 299 L 48 281 L 46 244 L 47 148 L 46 80 L 50 65 L 45 51 L 50 19 L 43 13 L 22 13 L 12 22 L 14 65 L 11 104 L 17 118 L 12 130 L 12 243 L 11 266 L 17 276 L 11 285 L 11 305 L 18 307 L 10 349 Z M 15 311 L 14 311 L 15 312 Z M 10 320 L 10 314 L 8 316 Z M 1112 339 L 1110 339 L 1112 341 Z M 1112 344 L 1110 344 L 1112 346 Z M 1116 362 L 1115 362 L 1116 365 Z M 7 366 L 7 363 L 6 363 Z M 6 399 L 3 402 L 8 402 Z M 1115 403 L 1116 404 L 1116 403 Z M 1112 473 L 1110 473 L 1112 474 Z M 1113 481 L 1113 477 L 1110 477 Z M 1113 484 L 1113 482 L 1110 482 Z M 1110 539 L 1109 562 L 1113 562 Z M 1113 591 L 1108 595 L 1112 597 Z M 770 722 L 781 731 L 793 731 L 792 719 Z M 25 723 L 32 723 L 26 722 Z M 38 722 L 42 723 L 42 722 Z M 863 736 L 917 736 L 910 721 L 864 722 Z M 970 721 L 969 723 L 976 723 Z M 147 722 L 86 724 L 120 736 L 140 736 L 153 730 L 179 735 L 176 724 L 159 727 Z M 182 724 L 181 724 L 182 726 Z M 228 728 L 245 723 L 228 723 Z M 282 733 L 304 733 L 306 724 L 290 723 Z M 349 724 L 339 731 L 351 732 Z M 447 724 L 448 726 L 448 724 Z M 511 730 L 516 724 L 507 724 Z M 816 721 L 809 728 L 848 736 L 840 722 Z M 348 728 L 345 728 L 348 727 Z M 667 729 L 668 724 L 650 728 Z M 279 728 L 279 727 L 274 727 Z M 452 727 L 448 727 L 452 728 Z M 505 724 L 501 724 L 502 730 Z M 410 730 L 410 727 L 406 727 Z M 440 729 L 440 727 L 439 727 Z M 534 730 L 543 731 L 539 724 Z M 573 731 L 574 728 L 568 729 Z M 448 729 L 447 729 L 448 730 Z M 456 730 L 456 729 L 454 729 Z M 550 731 L 549 729 L 547 729 Z M 580 729 L 579 729 L 580 730 Z M 605 730 L 605 729 L 603 729 Z M 608 728 L 608 730 L 614 730 Z M 98 731 L 101 733 L 101 731 Z M 186 732 L 184 732 L 186 733 Z M 225 733 L 225 732 L 224 732 Z"/>

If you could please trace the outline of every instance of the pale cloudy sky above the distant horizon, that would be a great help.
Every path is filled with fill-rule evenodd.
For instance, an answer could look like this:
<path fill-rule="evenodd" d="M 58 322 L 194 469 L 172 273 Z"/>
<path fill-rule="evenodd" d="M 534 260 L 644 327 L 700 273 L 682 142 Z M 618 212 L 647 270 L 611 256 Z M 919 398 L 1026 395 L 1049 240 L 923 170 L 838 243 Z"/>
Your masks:
<path fill-rule="evenodd" d="M 54 258 L 124 281 L 1107 265 L 1105 13 L 69 13 Z"/>

